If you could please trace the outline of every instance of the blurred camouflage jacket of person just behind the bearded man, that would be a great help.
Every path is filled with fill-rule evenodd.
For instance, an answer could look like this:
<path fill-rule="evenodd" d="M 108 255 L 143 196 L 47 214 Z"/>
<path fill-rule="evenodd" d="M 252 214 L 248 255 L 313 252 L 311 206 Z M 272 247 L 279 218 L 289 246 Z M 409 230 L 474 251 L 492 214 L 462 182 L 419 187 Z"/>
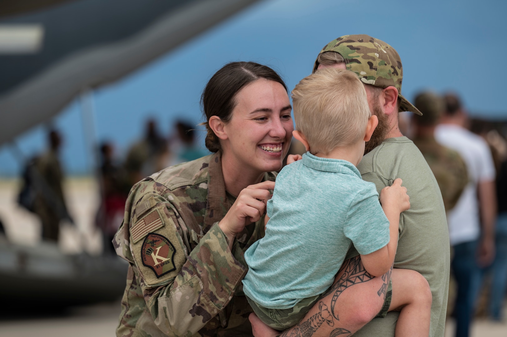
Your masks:
<path fill-rule="evenodd" d="M 465 162 L 456 151 L 439 144 L 434 137 L 415 138 L 414 144 L 437 179 L 446 212 L 453 209 L 468 183 Z"/>

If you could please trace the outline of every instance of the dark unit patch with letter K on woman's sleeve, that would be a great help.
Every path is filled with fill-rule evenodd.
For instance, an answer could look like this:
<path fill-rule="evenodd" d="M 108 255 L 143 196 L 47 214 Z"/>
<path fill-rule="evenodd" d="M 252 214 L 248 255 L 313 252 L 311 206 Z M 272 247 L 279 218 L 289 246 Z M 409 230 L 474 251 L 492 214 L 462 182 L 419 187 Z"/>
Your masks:
<path fill-rule="evenodd" d="M 166 237 L 149 233 L 141 247 L 142 264 L 150 267 L 158 278 L 176 269 L 175 253 L 176 249 Z"/>

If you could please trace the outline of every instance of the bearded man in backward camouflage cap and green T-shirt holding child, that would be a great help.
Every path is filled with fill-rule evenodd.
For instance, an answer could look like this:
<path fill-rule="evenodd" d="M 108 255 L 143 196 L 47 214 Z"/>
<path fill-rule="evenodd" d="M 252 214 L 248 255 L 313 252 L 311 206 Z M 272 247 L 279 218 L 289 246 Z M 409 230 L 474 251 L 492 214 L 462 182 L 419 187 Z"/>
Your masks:
<path fill-rule="evenodd" d="M 412 269 L 426 278 L 433 298 L 429 335 L 443 336 L 449 284 L 446 214 L 438 183 L 428 164 L 414 143 L 403 136 L 398 127 L 400 111 L 421 114 L 400 93 L 403 79 L 400 56 L 394 48 L 370 35 L 345 35 L 331 41 L 319 52 L 313 71 L 325 67 L 351 70 L 365 85 L 370 110 L 378 117 L 379 124 L 370 141 L 366 142 L 365 156 L 357 169 L 364 180 L 376 184 L 379 193 L 391 185 L 394 179 L 403 179 L 411 208 L 400 216 L 400 238 L 394 268 Z M 251 314 L 254 335 L 350 335 L 349 331 L 340 327 L 336 312 L 327 316 L 323 308 L 331 308 L 331 303 L 343 291 L 347 291 L 349 285 L 372 282 L 371 278 L 365 277 L 368 275 L 357 255 L 354 248 L 349 251 L 349 259 L 342 265 L 342 268 L 349 270 L 347 275 L 321 298 L 322 306 L 314 306 L 299 324 L 280 335 L 280 332 L 269 328 Z M 352 265 L 353 261 L 358 261 L 358 264 Z M 360 277 L 356 278 L 358 275 Z M 379 296 L 381 290 L 379 289 Z M 357 294 L 355 301 L 366 301 L 368 298 L 365 299 L 365 296 Z M 393 336 L 398 316 L 399 312 L 391 311 L 385 318 L 374 318 L 354 333 L 354 336 Z"/>

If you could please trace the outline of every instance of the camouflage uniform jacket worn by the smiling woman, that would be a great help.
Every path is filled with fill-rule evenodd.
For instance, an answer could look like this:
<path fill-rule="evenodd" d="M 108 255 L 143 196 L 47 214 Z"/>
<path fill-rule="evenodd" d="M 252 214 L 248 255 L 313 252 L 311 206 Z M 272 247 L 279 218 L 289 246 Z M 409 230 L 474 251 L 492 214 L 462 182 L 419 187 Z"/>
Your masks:
<path fill-rule="evenodd" d="M 246 226 L 231 251 L 218 226 L 229 208 L 220 154 L 133 186 L 114 239 L 130 264 L 118 336 L 252 335 L 243 253 L 264 236 L 264 218 Z"/>

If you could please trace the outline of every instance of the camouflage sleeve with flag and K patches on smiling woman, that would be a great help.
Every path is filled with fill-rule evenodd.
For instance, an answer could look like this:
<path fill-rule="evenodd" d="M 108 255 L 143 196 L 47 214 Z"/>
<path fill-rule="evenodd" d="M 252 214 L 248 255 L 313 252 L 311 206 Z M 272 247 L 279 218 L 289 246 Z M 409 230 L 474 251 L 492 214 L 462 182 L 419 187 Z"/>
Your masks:
<path fill-rule="evenodd" d="M 128 229 L 117 234 L 117 242 L 124 236 L 117 252 L 131 264 L 130 291 L 146 303 L 136 311 L 136 304 L 124 303 L 135 296 L 124 295 L 118 335 L 130 335 L 129 326 L 149 335 L 194 335 L 227 306 L 247 271 L 241 248 L 235 242 L 231 252 L 218 223 L 197 234 L 161 186 L 153 180 L 134 186 L 131 195 L 140 197 L 129 197 Z"/>

